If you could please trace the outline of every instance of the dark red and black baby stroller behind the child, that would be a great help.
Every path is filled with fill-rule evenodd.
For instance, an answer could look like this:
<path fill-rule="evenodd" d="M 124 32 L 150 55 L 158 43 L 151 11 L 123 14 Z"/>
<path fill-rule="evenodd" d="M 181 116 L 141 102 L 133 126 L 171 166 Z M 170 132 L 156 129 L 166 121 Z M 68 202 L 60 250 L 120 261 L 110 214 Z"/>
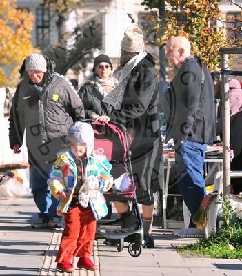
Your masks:
<path fill-rule="evenodd" d="M 118 219 L 101 219 L 97 221 L 96 239 L 111 239 L 116 242 L 117 250 L 123 250 L 124 242 L 128 242 L 128 253 L 138 257 L 142 252 L 143 220 L 135 196 L 132 176 L 131 138 L 121 124 L 90 122 L 94 129 L 94 149 L 105 154 L 112 164 L 111 174 L 114 186 L 104 193 L 108 203 L 113 201 L 128 203 L 128 213 Z"/>

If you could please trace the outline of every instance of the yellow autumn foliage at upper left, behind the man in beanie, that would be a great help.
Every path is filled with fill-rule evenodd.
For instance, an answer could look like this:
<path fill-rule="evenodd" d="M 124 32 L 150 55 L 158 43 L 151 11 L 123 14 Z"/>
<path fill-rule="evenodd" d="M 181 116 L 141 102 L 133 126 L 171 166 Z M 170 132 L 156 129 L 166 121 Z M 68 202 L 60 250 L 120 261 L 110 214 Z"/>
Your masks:
<path fill-rule="evenodd" d="M 0 1 L 0 87 L 16 86 L 23 59 L 39 52 L 31 43 L 34 15 L 17 10 L 16 2 Z"/>

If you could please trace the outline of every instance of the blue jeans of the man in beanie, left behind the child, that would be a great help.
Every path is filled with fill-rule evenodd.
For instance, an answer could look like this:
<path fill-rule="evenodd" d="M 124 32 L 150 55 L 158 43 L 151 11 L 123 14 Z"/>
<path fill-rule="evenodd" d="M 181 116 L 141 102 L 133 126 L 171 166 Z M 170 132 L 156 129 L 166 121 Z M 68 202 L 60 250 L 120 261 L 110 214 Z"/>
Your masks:
<path fill-rule="evenodd" d="M 30 188 L 34 197 L 34 202 L 39 209 L 39 218 L 57 216 L 58 200 L 52 196 L 50 188 L 46 183 L 48 173 L 52 165 L 30 166 Z"/>

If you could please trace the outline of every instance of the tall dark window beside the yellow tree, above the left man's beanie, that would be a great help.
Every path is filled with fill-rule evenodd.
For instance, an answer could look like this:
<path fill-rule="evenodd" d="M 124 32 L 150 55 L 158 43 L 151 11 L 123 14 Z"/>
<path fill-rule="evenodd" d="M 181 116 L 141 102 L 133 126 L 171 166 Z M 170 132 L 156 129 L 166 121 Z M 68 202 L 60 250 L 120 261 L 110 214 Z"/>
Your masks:
<path fill-rule="evenodd" d="M 50 10 L 37 8 L 37 46 L 43 48 L 50 44 Z"/>

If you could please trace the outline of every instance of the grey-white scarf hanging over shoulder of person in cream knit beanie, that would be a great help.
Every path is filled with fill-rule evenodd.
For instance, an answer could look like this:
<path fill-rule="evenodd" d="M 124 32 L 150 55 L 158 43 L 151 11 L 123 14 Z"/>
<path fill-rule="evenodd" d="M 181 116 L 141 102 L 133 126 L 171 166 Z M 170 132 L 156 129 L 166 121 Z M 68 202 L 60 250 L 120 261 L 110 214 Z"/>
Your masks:
<path fill-rule="evenodd" d="M 108 106 L 112 106 L 115 110 L 120 110 L 121 105 L 123 103 L 123 95 L 128 83 L 128 80 L 130 79 L 131 71 L 134 69 L 135 66 L 141 61 L 145 56 L 147 55 L 147 52 L 140 52 L 135 57 L 132 57 L 130 61 L 128 61 L 123 68 L 119 66 L 117 70 L 114 71 L 114 75 L 119 75 L 119 82 L 117 86 L 103 99 L 104 103 L 107 103 Z"/>

